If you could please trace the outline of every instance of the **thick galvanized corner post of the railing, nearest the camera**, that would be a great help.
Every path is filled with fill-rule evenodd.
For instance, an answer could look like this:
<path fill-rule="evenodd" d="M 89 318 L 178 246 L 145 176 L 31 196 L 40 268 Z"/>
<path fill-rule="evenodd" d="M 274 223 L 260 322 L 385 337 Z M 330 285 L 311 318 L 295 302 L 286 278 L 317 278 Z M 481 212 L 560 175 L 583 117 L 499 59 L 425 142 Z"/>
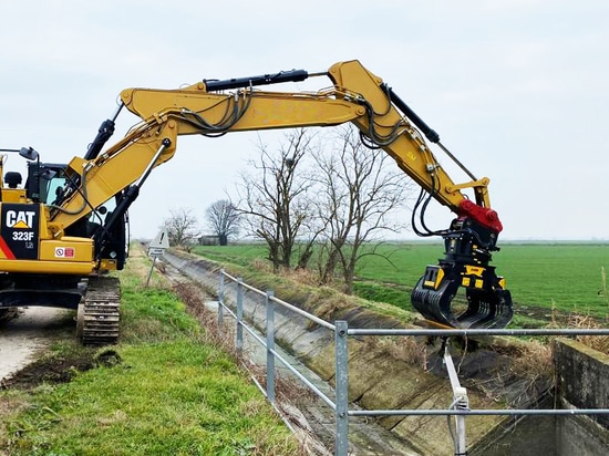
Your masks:
<path fill-rule="evenodd" d="M 337 360 L 337 456 L 347 456 L 349 450 L 349 371 L 347 349 L 347 321 L 336 321 L 334 344 Z"/>

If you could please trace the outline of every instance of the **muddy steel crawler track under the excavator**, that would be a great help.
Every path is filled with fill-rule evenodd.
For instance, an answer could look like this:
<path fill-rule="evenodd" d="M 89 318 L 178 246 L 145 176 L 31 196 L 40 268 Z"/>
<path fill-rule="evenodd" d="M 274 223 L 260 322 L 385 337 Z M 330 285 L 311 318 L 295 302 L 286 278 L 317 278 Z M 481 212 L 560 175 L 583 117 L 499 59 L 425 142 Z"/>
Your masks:
<path fill-rule="evenodd" d="M 121 284 L 115 277 L 92 277 L 79 304 L 76 335 L 83 345 L 110 345 L 118 341 Z"/>

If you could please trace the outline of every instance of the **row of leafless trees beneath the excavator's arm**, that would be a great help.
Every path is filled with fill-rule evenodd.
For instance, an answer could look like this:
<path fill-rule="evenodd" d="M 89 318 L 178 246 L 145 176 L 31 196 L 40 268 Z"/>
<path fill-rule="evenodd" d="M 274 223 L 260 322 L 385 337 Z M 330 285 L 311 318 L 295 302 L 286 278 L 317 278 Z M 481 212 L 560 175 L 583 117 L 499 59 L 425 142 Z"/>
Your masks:
<path fill-rule="evenodd" d="M 341 278 L 350 293 L 358 261 L 374 255 L 383 235 L 405 228 L 393 217 L 413 190 L 393 159 L 351 125 L 290 129 L 277 149 L 257 145 L 235 197 L 209 206 L 205 227 L 219 245 L 237 235 L 261 240 L 275 271 L 316 269 L 321 283 Z M 200 236 L 188 209 L 173 209 L 162 228 L 172 245 Z"/>

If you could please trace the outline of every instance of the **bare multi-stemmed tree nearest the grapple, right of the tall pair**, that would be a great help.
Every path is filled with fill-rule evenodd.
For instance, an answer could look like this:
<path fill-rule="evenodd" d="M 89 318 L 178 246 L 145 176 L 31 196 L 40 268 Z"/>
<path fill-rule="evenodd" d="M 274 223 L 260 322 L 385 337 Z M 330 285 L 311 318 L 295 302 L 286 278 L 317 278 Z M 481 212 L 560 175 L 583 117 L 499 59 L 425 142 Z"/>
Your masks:
<path fill-rule="evenodd" d="M 383 151 L 363 146 L 355 128 L 338 132 L 331 153 L 316 154 L 318 217 L 326 227 L 320 279 L 331 281 L 340 267 L 344 291 L 351 293 L 358 260 L 373 253 L 363 243 L 405 227 L 390 215 L 404 207 L 413 184 Z"/>

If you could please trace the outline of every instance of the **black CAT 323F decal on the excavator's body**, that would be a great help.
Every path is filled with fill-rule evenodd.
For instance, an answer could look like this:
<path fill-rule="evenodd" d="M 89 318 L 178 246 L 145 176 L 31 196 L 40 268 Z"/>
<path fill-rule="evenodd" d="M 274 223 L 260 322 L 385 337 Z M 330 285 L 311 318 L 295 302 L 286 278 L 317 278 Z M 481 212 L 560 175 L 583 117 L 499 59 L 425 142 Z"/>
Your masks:
<path fill-rule="evenodd" d="M 0 255 L 7 259 L 38 259 L 39 205 L 2 204 Z"/>

